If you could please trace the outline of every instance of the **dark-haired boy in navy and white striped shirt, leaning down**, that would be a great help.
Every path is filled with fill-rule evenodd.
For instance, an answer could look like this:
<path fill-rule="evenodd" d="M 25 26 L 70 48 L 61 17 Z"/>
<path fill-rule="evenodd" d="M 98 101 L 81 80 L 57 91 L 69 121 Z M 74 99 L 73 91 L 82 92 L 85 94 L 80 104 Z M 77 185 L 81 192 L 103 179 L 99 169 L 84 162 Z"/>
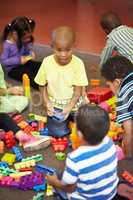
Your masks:
<path fill-rule="evenodd" d="M 117 94 L 117 121 L 125 129 L 123 148 L 133 158 L 133 64 L 125 57 L 112 57 L 103 64 L 102 76 Z"/>

